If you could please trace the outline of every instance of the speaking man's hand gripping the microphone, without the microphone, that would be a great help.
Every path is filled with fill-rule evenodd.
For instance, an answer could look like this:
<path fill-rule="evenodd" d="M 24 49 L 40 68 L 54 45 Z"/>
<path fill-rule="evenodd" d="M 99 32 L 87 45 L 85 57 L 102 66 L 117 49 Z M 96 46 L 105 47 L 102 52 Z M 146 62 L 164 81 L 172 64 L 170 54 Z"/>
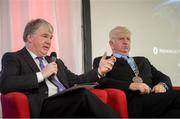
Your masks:
<path fill-rule="evenodd" d="M 55 62 L 47 64 L 44 69 L 42 69 L 41 73 L 44 79 L 48 78 L 52 74 L 57 74 L 57 64 Z"/>

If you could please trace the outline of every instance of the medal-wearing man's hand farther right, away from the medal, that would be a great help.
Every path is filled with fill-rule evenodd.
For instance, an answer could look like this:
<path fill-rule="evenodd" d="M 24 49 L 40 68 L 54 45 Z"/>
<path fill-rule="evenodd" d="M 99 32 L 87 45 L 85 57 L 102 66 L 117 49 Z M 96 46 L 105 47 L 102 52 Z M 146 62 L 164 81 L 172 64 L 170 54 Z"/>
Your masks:
<path fill-rule="evenodd" d="M 165 89 L 165 87 L 164 87 L 164 85 L 162 83 L 158 83 L 157 85 L 155 85 L 153 87 L 151 92 L 154 92 L 154 93 L 165 93 L 166 89 Z"/>

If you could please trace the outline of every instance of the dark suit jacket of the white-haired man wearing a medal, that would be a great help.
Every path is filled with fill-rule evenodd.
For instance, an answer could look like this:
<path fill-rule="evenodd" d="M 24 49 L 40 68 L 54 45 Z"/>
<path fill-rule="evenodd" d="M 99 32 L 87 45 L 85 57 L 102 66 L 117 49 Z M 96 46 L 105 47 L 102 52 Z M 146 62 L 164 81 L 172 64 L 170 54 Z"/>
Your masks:
<path fill-rule="evenodd" d="M 93 62 L 93 67 L 97 68 L 98 63 L 101 57 L 95 58 Z M 134 57 L 140 74 L 139 76 L 143 79 L 143 82 L 146 83 L 149 87 L 153 87 L 159 82 L 164 82 L 169 88 L 172 87 L 170 78 L 158 71 L 149 60 L 145 57 Z M 107 73 L 105 80 L 101 80 L 98 88 L 118 88 L 122 89 L 128 95 L 129 85 L 132 82 L 132 78 L 135 76 L 129 64 L 122 58 L 117 58 L 116 63 L 113 66 L 112 71 Z"/>

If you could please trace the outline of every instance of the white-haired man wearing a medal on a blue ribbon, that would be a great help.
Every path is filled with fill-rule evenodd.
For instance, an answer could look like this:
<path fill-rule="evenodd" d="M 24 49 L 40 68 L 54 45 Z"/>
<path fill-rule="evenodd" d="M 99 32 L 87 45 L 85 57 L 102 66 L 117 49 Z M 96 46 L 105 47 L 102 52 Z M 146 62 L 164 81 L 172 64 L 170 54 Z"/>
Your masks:
<path fill-rule="evenodd" d="M 116 62 L 96 88 L 125 91 L 129 117 L 180 117 L 180 92 L 172 91 L 170 78 L 145 57 L 129 57 L 130 31 L 118 26 L 110 31 L 109 44 Z M 99 66 L 95 58 L 93 67 Z"/>

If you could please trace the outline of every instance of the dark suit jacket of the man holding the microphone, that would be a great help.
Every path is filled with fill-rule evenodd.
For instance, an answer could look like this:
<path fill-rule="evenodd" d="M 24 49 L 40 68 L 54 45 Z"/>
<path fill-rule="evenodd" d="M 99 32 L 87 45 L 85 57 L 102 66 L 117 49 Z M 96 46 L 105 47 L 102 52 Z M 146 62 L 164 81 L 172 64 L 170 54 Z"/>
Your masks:
<path fill-rule="evenodd" d="M 50 57 L 45 58 L 50 62 Z M 57 77 L 66 88 L 99 79 L 97 69 L 84 75 L 76 75 L 67 69 L 62 60 L 58 59 L 56 63 L 58 65 Z M 39 116 L 43 100 L 48 97 L 47 85 L 45 81 L 38 83 L 36 72 L 39 72 L 39 68 L 26 48 L 6 53 L 2 58 L 0 91 L 2 93 L 13 91 L 25 93 L 29 98 L 32 117 Z"/>

